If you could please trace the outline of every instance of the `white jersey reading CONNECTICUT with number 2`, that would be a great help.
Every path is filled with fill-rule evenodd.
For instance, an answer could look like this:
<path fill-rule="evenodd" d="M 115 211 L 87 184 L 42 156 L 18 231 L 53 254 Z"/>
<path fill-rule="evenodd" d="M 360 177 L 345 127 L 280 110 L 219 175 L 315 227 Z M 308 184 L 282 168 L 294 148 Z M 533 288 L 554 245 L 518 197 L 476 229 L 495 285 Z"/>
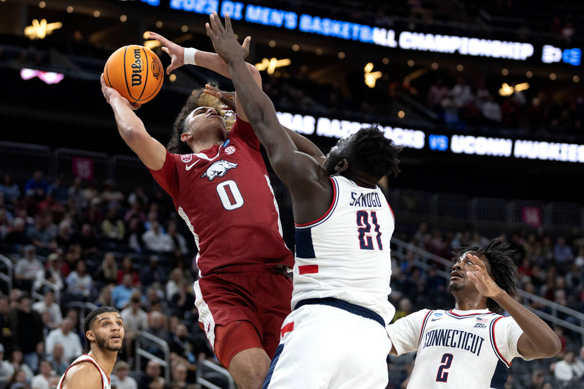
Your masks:
<path fill-rule="evenodd" d="M 408 388 L 503 389 L 523 330 L 488 309 L 427 310 L 402 317 L 387 332 L 397 355 L 416 351 Z"/>

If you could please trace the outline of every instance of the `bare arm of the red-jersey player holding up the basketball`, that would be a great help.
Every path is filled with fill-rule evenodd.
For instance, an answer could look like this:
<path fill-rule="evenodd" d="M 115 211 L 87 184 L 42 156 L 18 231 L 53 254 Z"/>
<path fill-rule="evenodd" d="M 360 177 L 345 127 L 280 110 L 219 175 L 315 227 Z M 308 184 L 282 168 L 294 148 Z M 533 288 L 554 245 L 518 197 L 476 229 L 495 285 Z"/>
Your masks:
<path fill-rule="evenodd" d="M 113 108 L 117 129 L 121 138 L 136 153 L 148 169 L 162 169 L 166 159 L 166 148 L 146 132 L 144 123 L 134 113 L 140 106 L 130 104 L 117 90 L 106 85 L 101 76 L 102 92 L 107 103 Z"/>

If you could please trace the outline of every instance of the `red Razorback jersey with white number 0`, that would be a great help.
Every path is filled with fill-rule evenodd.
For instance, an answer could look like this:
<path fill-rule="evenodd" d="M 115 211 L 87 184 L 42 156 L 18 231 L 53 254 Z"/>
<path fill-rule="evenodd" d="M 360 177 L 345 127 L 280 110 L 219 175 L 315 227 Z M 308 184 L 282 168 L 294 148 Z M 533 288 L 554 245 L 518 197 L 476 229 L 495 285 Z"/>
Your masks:
<path fill-rule="evenodd" d="M 150 172 L 193 233 L 201 275 L 232 265 L 294 266 L 248 122 L 237 118 L 223 145 L 186 155 L 167 150 L 162 169 Z"/>

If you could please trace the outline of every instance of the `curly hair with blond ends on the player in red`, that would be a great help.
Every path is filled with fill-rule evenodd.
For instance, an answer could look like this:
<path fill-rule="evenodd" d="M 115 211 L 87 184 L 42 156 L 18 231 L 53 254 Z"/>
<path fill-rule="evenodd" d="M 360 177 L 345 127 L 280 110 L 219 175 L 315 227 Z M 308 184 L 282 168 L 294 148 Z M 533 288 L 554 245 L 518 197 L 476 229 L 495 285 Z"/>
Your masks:
<path fill-rule="evenodd" d="M 208 84 L 213 85 L 213 83 L 208 82 Z M 185 127 L 185 120 L 187 116 L 199 107 L 213 107 L 217 112 L 225 118 L 225 124 L 227 124 L 227 131 L 231 130 L 233 124 L 235 123 L 235 115 L 230 117 L 225 116 L 225 111 L 223 110 L 223 104 L 215 97 L 210 94 L 203 93 L 205 88 L 201 87 L 199 89 L 193 90 L 190 96 L 187 98 L 185 105 L 180 110 L 179 114 L 176 116 L 175 122 L 172 125 L 171 138 L 166 145 L 169 152 L 174 154 L 190 154 L 193 150 L 190 149 L 186 142 L 180 140 L 180 135 L 182 135 L 187 128 Z"/>

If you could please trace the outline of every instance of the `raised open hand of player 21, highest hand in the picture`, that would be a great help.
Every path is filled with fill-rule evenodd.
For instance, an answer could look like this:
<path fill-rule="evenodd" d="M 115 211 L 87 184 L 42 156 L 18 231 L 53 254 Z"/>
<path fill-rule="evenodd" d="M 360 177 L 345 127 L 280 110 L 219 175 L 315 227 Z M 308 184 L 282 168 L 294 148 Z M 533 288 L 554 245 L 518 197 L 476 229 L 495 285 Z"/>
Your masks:
<path fill-rule="evenodd" d="M 209 16 L 210 23 L 205 24 L 207 36 L 211 38 L 215 52 L 228 64 L 232 60 L 243 59 L 249 54 L 249 41 L 251 37 L 246 37 L 241 46 L 235 39 L 235 34 L 231 28 L 231 19 L 225 14 L 225 27 L 219 19 L 217 12 Z"/>

